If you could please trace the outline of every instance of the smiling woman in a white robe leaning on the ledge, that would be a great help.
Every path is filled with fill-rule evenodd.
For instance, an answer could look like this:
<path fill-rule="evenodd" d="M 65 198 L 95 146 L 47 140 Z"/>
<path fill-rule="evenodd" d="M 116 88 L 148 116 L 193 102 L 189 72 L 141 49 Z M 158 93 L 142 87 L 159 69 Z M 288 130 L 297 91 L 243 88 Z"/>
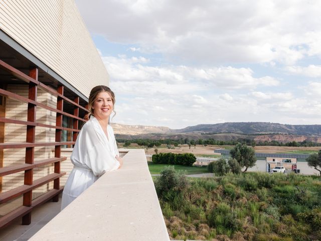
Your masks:
<path fill-rule="evenodd" d="M 121 167 L 116 140 L 108 125 L 115 104 L 114 93 L 104 85 L 90 91 L 89 121 L 82 127 L 70 156 L 74 168 L 66 182 L 61 209 L 64 209 L 102 174 Z"/>

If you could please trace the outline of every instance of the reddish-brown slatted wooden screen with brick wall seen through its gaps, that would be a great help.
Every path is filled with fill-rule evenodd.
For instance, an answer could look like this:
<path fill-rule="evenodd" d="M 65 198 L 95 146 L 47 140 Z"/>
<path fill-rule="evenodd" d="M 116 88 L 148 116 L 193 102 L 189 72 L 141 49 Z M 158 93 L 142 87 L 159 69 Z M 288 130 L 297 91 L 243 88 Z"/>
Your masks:
<path fill-rule="evenodd" d="M 62 145 L 72 146 L 79 133 L 79 96 L 73 100 L 64 96 L 64 86 L 53 89 L 38 81 L 38 69 L 30 70 L 29 76 L 0 60 L 0 69 L 16 76 L 0 88 L 0 96 L 6 99 L 6 115 L 0 117 L 5 124 L 5 137 L 0 143 L 3 165 L 0 166 L 0 205 L 21 198 L 22 203 L 14 210 L 0 214 L 0 228 L 17 217 L 23 224 L 30 224 L 31 211 L 45 201 L 58 201 L 63 190 L 60 178 Z M 0 79 L 1 80 L 1 79 Z M 25 83 L 21 83 L 23 80 Z M 3 101 L 4 102 L 4 101 Z M 65 112 L 64 104 L 73 106 L 73 113 Z M 70 111 L 70 110 L 69 110 Z M 63 117 L 68 116 L 72 128 L 63 127 Z M 63 131 L 71 133 L 69 141 L 63 141 Z"/>

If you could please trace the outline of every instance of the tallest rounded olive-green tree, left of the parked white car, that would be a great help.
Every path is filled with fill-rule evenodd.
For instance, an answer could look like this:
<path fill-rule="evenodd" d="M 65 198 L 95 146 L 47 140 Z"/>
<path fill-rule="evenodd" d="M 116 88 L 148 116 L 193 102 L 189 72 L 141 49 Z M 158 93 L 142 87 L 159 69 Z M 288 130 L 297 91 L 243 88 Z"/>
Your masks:
<path fill-rule="evenodd" d="M 246 144 L 236 144 L 236 146 L 230 151 L 230 155 L 239 163 L 241 168 L 245 167 L 243 172 L 246 172 L 249 167 L 253 167 L 256 163 L 254 149 L 252 147 L 248 147 Z"/>

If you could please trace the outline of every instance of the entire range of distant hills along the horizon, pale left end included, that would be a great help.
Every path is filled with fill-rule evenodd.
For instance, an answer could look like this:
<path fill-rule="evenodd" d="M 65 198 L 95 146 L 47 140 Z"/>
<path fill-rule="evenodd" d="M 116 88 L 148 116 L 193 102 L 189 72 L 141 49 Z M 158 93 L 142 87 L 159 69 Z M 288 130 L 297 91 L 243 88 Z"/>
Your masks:
<path fill-rule="evenodd" d="M 237 141 L 252 139 L 256 142 L 278 141 L 288 143 L 321 143 L 321 125 L 283 125 L 266 122 L 221 123 L 197 125 L 183 129 L 168 127 L 121 125 L 111 123 L 117 139 L 215 139 L 218 141 Z"/>

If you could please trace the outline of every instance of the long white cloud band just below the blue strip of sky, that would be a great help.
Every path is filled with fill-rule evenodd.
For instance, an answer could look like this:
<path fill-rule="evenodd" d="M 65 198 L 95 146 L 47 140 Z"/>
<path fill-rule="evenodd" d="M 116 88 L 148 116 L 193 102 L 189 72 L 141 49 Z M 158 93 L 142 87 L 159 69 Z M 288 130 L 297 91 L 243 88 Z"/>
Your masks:
<path fill-rule="evenodd" d="M 125 56 L 103 57 L 102 58 L 112 81 L 134 81 L 144 82 L 149 85 L 155 83 L 159 88 L 168 84 L 191 84 L 202 82 L 197 89 L 219 87 L 224 89 L 255 89 L 257 86 L 277 86 L 279 81 L 270 76 L 254 78 L 250 68 L 213 67 L 196 68 L 188 66 L 148 66 L 141 63 L 148 63 L 143 57 L 126 58 Z M 149 82 L 149 83 L 147 83 Z M 130 83 L 128 83 L 130 84 Z M 178 86 L 178 89 L 180 87 Z M 183 87 L 184 88 L 184 87 Z M 196 89 L 195 89 L 196 90 Z M 171 90 L 169 90 L 171 92 Z"/>

